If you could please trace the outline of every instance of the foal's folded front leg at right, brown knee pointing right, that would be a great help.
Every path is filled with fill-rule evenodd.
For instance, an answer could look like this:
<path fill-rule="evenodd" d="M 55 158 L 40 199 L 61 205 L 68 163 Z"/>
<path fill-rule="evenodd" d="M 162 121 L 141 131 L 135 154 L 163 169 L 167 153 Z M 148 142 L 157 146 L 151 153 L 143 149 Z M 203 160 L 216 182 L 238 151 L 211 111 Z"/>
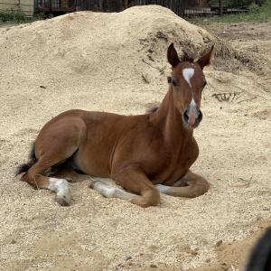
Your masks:
<path fill-rule="evenodd" d="M 156 184 L 156 189 L 166 195 L 173 197 L 185 197 L 185 198 L 195 198 L 199 197 L 205 192 L 208 192 L 209 183 L 200 175 L 188 171 L 182 179 L 176 182 L 178 185 L 166 186 L 163 184 Z"/>

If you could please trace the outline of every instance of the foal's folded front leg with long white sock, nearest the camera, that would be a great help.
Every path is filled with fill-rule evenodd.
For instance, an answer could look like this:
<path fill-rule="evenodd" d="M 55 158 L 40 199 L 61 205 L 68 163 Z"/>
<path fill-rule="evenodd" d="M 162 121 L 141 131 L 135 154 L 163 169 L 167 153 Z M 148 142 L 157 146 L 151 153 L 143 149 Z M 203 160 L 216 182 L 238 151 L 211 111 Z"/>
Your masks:
<path fill-rule="evenodd" d="M 159 192 L 142 171 L 135 168 L 120 169 L 115 171 L 115 173 L 112 173 L 112 178 L 128 192 L 117 187 L 109 187 L 104 182 L 99 181 L 92 182 L 90 187 L 107 198 L 118 198 L 131 201 L 141 207 L 159 204 Z"/>

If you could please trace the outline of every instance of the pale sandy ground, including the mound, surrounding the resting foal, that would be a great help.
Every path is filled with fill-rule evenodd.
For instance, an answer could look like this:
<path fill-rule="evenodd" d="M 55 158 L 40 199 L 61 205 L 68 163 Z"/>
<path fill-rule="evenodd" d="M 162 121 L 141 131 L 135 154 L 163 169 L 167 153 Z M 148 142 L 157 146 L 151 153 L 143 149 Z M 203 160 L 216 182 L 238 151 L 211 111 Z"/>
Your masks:
<path fill-rule="evenodd" d="M 271 222 L 270 23 L 205 28 L 143 6 L 0 29 L 0 270 L 241 270 Z M 142 209 L 78 182 L 61 208 L 14 176 L 62 111 L 141 114 L 159 103 L 171 42 L 195 57 L 218 44 L 192 166 L 210 182 L 207 194 L 162 195 Z"/>

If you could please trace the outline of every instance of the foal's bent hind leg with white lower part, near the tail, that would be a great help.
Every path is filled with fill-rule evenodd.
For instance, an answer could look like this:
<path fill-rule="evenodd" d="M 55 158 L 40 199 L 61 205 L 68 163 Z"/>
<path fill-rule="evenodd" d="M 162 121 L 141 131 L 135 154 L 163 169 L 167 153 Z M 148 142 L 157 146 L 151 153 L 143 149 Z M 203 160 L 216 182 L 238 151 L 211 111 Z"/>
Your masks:
<path fill-rule="evenodd" d="M 63 164 L 78 151 L 86 135 L 86 125 L 80 112 L 65 112 L 54 117 L 42 127 L 35 141 L 36 164 L 23 174 L 22 180 L 36 188 L 46 188 L 56 192 L 55 201 L 60 205 L 70 202 L 69 183 L 64 178 L 44 176 L 51 168 Z M 21 173 L 22 171 L 19 171 Z"/>

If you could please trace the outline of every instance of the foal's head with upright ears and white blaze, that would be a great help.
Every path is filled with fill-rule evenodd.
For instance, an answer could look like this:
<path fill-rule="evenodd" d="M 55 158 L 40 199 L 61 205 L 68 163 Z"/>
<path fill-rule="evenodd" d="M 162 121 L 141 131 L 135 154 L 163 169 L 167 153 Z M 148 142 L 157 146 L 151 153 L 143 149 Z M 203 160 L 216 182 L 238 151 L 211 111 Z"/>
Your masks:
<path fill-rule="evenodd" d="M 167 59 L 173 68 L 170 83 L 173 88 L 175 107 L 181 113 L 183 123 L 187 127 L 199 126 L 202 119 L 201 93 L 206 85 L 202 70 L 210 65 L 212 51 L 213 46 L 198 61 L 192 61 L 186 56 L 180 60 L 173 43 L 167 51 Z"/>

